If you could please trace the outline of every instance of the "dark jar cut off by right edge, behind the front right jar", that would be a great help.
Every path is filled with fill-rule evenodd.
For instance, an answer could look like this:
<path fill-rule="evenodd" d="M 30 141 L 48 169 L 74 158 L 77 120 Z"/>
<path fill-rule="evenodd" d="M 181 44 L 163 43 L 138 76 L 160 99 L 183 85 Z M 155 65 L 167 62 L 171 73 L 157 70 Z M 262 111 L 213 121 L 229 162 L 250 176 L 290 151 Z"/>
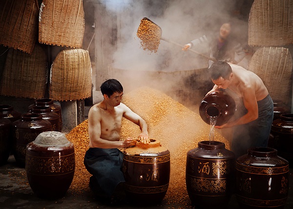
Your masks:
<path fill-rule="evenodd" d="M 272 146 L 278 150 L 278 155 L 289 161 L 293 166 L 293 114 L 281 114 L 279 119 L 272 122 Z"/>

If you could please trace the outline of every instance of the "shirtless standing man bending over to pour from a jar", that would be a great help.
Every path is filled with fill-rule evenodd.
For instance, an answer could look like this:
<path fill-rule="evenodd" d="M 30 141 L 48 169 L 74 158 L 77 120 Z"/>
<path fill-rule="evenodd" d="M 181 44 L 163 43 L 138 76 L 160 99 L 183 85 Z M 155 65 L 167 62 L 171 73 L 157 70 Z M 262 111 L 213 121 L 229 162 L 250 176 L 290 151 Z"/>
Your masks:
<path fill-rule="evenodd" d="M 215 128 L 233 127 L 231 150 L 236 158 L 246 154 L 251 147 L 268 145 L 273 119 L 273 103 L 262 80 L 253 72 L 236 64 L 217 61 L 209 68 L 215 84 L 211 91 L 230 89 L 243 101 L 241 115 Z M 209 93 L 211 92 L 209 91 Z M 238 109 L 237 112 L 241 112 Z"/>

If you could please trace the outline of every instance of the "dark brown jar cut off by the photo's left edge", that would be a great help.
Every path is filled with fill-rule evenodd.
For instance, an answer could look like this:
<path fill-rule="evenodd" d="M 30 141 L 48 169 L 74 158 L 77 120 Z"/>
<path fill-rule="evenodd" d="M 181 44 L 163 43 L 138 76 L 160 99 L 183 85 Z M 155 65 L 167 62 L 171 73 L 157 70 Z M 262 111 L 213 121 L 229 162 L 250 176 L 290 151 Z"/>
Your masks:
<path fill-rule="evenodd" d="M 12 146 L 11 121 L 0 114 L 0 166 L 7 163 Z"/>

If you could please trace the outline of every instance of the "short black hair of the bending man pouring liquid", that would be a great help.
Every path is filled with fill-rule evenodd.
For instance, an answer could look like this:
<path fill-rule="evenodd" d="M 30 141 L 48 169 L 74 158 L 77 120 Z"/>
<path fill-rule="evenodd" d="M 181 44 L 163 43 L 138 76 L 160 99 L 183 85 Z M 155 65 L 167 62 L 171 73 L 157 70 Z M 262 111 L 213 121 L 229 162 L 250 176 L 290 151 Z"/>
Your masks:
<path fill-rule="evenodd" d="M 229 76 L 232 73 L 230 64 L 223 61 L 214 62 L 209 68 L 210 78 L 217 80 L 222 77 L 225 80 L 229 80 Z"/>

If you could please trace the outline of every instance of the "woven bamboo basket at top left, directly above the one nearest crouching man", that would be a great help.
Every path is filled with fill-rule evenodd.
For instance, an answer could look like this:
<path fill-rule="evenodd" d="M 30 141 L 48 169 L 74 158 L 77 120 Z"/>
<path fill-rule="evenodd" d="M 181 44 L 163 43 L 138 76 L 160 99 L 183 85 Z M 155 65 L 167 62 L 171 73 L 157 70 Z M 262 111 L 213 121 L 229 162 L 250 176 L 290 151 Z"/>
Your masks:
<path fill-rule="evenodd" d="M 39 42 L 81 48 L 84 38 L 83 0 L 43 0 Z"/>

